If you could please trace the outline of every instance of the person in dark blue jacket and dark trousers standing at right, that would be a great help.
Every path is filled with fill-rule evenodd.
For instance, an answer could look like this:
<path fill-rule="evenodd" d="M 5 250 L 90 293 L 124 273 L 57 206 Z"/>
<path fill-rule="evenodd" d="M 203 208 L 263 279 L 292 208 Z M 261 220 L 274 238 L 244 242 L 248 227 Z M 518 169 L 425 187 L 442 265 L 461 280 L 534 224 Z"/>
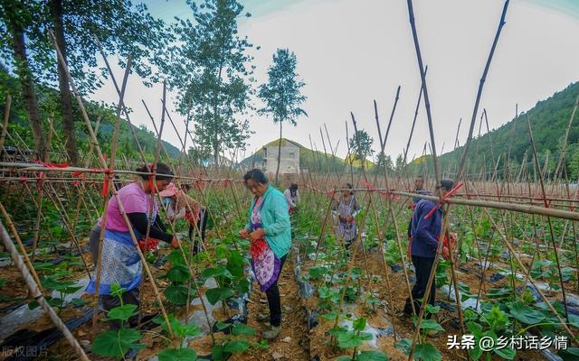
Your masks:
<path fill-rule="evenodd" d="M 452 187 L 454 187 L 452 180 L 443 179 L 441 180 L 441 186 L 436 187 L 434 194 L 436 196 L 444 196 Z M 414 310 L 416 310 L 417 314 L 420 312 L 422 297 L 426 292 L 428 279 L 432 272 L 432 266 L 434 265 L 434 257 L 436 256 L 439 245 L 438 238 L 441 235 L 441 207 L 437 208 L 430 218 L 425 218 L 432 208 L 436 206 L 436 203 L 434 200 L 421 199 L 416 203 L 416 208 L 414 208 L 413 213 L 410 254 L 416 274 L 416 282 L 413 286 L 412 295 Z M 442 252 L 446 255 L 448 254 L 448 249 L 445 248 Z M 428 299 L 428 303 L 432 305 L 434 305 L 435 290 L 435 282 L 432 282 L 431 293 Z M 411 315 L 412 313 L 412 303 L 410 298 L 408 298 L 404 305 L 404 314 Z M 428 315 L 426 315 L 426 317 L 428 317 Z"/>

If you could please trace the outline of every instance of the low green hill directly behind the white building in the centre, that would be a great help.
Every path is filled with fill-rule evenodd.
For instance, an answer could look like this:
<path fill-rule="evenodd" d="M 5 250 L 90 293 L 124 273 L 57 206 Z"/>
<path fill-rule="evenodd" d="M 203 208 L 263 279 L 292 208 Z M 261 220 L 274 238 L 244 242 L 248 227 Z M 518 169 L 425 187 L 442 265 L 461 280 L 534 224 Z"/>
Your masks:
<path fill-rule="evenodd" d="M 278 145 L 280 142 L 279 139 L 272 141 L 270 143 L 264 144 L 266 145 Z M 302 168 L 307 168 L 308 171 L 318 171 L 318 172 L 325 172 L 329 167 L 330 171 L 342 171 L 345 169 L 345 161 L 338 157 L 332 157 L 331 154 L 319 152 L 319 151 L 312 151 L 305 146 L 296 143 L 294 141 L 290 141 L 286 138 L 281 138 L 281 146 L 283 146 L 286 142 L 293 143 L 299 147 L 299 165 Z M 263 160 L 263 148 L 261 148 L 256 153 L 253 153 L 249 157 L 239 162 L 240 166 L 246 168 L 251 167 L 253 165 L 259 166 L 261 161 Z"/>

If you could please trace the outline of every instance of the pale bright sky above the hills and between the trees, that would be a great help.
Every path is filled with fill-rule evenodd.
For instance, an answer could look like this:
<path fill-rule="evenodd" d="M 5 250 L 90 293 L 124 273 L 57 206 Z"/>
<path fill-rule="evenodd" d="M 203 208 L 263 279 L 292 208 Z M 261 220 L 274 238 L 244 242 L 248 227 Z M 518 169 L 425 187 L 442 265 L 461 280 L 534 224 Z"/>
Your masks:
<path fill-rule="evenodd" d="M 421 80 L 413 38 L 403 0 L 247 0 L 244 12 L 252 14 L 239 23 L 240 35 L 260 50 L 252 50 L 258 84 L 267 81 L 271 56 L 278 48 L 294 51 L 298 58 L 302 89 L 308 97 L 298 125 L 284 126 L 284 137 L 309 147 L 309 136 L 322 149 L 319 129 L 327 125 L 337 155 L 346 150 L 346 121 L 350 112 L 358 128 L 375 138 L 379 151 L 373 100 L 377 102 L 384 130 L 394 105 L 396 88 L 400 99 L 385 152 L 393 158 L 403 153 L 413 121 Z M 175 16 L 190 17 L 185 1 L 146 1 L 151 14 L 166 22 Z M 503 8 L 501 0 L 414 0 L 414 14 L 422 60 L 427 64 L 427 85 L 437 153 L 451 151 L 460 118 L 459 141 L 464 143 L 479 87 L 479 79 Z M 487 110 L 490 128 L 507 123 L 518 110 L 526 111 L 537 101 L 579 80 L 579 0 L 511 0 L 506 24 L 495 51 L 480 101 L 479 114 Z M 122 69 L 114 69 L 117 79 Z M 162 87 L 142 85 L 138 75 L 128 80 L 126 103 L 133 109 L 134 124 L 153 126 L 141 99 L 157 119 L 161 115 Z M 173 104 L 176 95 L 169 93 Z M 90 97 L 118 102 L 107 83 Z M 259 104 L 258 104 L 259 106 Z M 179 132 L 184 117 L 168 106 Z M 245 156 L 279 136 L 271 118 L 252 116 L 255 133 Z M 478 131 L 478 126 L 477 126 Z M 563 130 L 561 130 L 563 132 Z M 164 131 L 165 133 L 165 131 Z M 176 132 L 166 128 L 163 139 L 180 148 Z M 422 104 L 408 157 L 422 155 L 430 139 Z M 329 152 L 329 150 L 328 150 Z M 243 155 L 241 153 L 240 155 Z M 241 157 L 240 157 L 241 158 Z"/>

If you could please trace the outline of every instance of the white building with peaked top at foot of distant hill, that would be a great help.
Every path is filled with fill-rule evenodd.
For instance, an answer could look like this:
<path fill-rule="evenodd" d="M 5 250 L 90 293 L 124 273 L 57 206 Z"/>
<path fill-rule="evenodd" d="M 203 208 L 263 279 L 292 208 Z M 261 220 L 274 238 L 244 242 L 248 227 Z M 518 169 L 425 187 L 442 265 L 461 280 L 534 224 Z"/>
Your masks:
<path fill-rule="evenodd" d="M 263 146 L 261 169 L 265 173 L 275 174 L 278 168 L 279 140 Z M 280 174 L 299 174 L 299 144 L 281 139 Z"/>

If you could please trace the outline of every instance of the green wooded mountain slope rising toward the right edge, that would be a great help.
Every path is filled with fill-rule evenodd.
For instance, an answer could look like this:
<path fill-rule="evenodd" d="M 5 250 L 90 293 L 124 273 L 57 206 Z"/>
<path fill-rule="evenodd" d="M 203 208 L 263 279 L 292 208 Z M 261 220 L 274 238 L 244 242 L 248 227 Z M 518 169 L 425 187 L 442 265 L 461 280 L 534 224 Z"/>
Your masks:
<path fill-rule="evenodd" d="M 491 175 L 498 163 L 498 176 L 501 176 L 506 167 L 505 160 L 510 151 L 510 169 L 517 172 L 527 153 L 527 169 L 533 171 L 534 159 L 527 127 L 527 117 L 533 130 L 536 153 L 541 167 L 546 175 L 554 177 L 557 162 L 561 155 L 561 146 L 565 139 L 565 128 L 573 112 L 579 96 L 579 82 L 569 85 L 564 90 L 555 93 L 552 97 L 541 100 L 527 112 L 519 114 L 498 129 L 474 138 L 470 144 L 467 173 L 486 172 Z M 579 112 L 577 112 L 579 113 Z M 479 119 L 475 126 L 475 135 L 478 132 Z M 483 125 L 484 129 L 484 125 Z M 492 141 L 492 148 L 491 148 Z M 441 171 L 451 177 L 458 170 L 458 164 L 464 148 L 460 146 L 450 153 L 444 153 L 439 158 Z M 565 150 L 565 166 L 571 180 L 579 177 L 579 114 L 575 114 L 573 124 L 569 130 L 567 147 Z M 422 157 L 408 165 L 411 172 L 428 172 L 432 174 L 431 157 Z M 449 174 L 450 173 L 450 174 Z"/>

